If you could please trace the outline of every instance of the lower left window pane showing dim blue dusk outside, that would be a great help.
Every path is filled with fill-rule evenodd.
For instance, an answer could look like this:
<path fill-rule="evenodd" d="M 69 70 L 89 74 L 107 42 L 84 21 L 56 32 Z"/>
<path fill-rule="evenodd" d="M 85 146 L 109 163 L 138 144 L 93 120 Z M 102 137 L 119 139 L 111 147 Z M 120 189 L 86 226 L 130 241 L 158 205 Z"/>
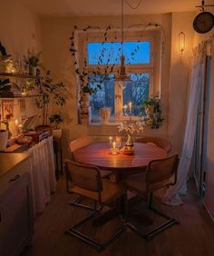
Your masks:
<path fill-rule="evenodd" d="M 114 86 L 113 86 L 113 74 L 108 75 L 109 80 L 103 81 L 102 74 L 90 74 L 89 83 L 91 87 L 95 87 L 96 84 L 101 84 L 102 89 L 97 90 L 95 94 L 91 96 L 92 116 L 100 116 L 100 109 L 102 107 L 109 107 L 111 109 L 111 115 L 114 115 Z"/>

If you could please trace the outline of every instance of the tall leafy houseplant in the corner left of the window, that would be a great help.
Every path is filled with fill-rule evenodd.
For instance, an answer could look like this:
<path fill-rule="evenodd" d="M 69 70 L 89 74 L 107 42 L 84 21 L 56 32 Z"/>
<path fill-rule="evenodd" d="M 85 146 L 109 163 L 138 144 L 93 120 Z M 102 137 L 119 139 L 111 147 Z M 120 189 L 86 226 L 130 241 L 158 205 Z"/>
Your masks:
<path fill-rule="evenodd" d="M 37 70 L 34 86 L 38 94 L 41 95 L 41 97 L 36 100 L 36 106 L 42 109 L 43 124 L 46 125 L 50 106 L 52 104 L 63 106 L 66 102 L 64 97 L 64 91 L 66 91 L 65 84 L 62 82 L 54 82 L 50 71 L 47 71 L 46 74 L 41 74 L 40 70 Z"/>

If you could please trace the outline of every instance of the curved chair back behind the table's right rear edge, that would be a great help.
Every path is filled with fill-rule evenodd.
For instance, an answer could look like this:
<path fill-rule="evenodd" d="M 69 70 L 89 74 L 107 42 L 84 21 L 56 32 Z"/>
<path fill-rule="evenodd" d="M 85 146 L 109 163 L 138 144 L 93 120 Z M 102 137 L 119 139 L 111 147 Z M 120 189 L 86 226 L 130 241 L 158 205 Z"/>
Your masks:
<path fill-rule="evenodd" d="M 167 153 L 171 151 L 171 143 L 163 138 L 145 136 L 136 139 L 136 143 L 154 143 L 161 149 L 165 150 Z"/>

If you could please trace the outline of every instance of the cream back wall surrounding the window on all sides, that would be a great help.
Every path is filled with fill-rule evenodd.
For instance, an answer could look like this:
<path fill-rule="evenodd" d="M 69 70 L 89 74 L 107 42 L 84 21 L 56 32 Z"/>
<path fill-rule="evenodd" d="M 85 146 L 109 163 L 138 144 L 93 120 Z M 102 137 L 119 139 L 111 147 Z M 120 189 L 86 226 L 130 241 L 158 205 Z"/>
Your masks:
<path fill-rule="evenodd" d="M 190 31 L 192 14 L 176 15 L 143 15 L 125 16 L 125 26 L 159 23 L 166 34 L 165 51 L 162 56 L 161 70 L 161 102 L 163 105 L 164 124 L 158 130 L 146 127 L 144 134 L 170 137 L 174 151 L 180 152 L 183 135 L 183 116 L 185 115 L 186 92 L 188 90 L 190 48 L 192 36 Z M 181 23 L 181 25 L 180 25 Z M 65 119 L 64 130 L 67 141 L 83 134 L 116 134 L 115 125 L 90 125 L 77 124 L 76 78 L 73 73 L 73 59 L 69 52 L 69 37 L 73 32 L 73 25 L 78 28 L 87 25 L 114 27 L 121 24 L 121 17 L 75 17 L 75 18 L 43 18 L 42 37 L 44 50 L 44 64 L 52 71 L 55 77 L 63 80 L 68 85 L 68 102 L 63 109 Z M 177 49 L 177 36 L 183 30 L 187 33 L 188 46 L 180 58 Z M 180 75 L 182 74 L 182 75 Z M 179 82 L 176 82 L 179 80 Z M 170 97 L 169 97 L 170 96 Z M 173 102 L 176 102 L 174 104 Z M 170 110 L 170 116 L 169 116 Z"/>

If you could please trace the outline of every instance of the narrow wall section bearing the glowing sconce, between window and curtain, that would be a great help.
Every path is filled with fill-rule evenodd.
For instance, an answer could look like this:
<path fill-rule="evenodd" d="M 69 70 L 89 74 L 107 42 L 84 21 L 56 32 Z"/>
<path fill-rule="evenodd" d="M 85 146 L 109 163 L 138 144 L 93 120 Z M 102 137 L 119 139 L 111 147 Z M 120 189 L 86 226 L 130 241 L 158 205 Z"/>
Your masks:
<path fill-rule="evenodd" d="M 169 137 L 170 142 L 173 142 L 174 152 L 178 153 L 182 148 L 189 93 L 190 61 L 194 39 L 193 17 L 193 13 L 172 14 Z M 182 53 L 179 51 L 180 32 L 185 34 L 186 43 Z"/>

